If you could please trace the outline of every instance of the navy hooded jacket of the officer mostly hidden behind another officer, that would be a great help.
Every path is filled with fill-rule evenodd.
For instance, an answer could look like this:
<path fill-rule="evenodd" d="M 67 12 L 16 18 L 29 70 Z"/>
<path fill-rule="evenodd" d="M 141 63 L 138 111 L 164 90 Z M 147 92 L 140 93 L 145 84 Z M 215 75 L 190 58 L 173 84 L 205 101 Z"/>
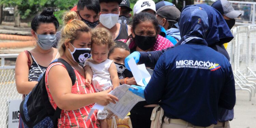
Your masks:
<path fill-rule="evenodd" d="M 211 34 L 212 36 L 208 36 L 206 39 L 208 46 L 213 48 L 215 51 L 223 54 L 228 60 L 230 60 L 228 52 L 226 51 L 225 47 L 223 46 L 224 43 L 230 42 L 233 39 L 233 35 L 230 32 L 227 23 L 225 22 L 222 15 L 206 4 L 197 4 L 202 8 L 206 8 L 206 12 L 208 14 L 208 21 L 213 22 L 211 27 Z M 216 33 L 215 33 L 215 32 Z M 217 36 L 216 36 L 217 35 Z M 214 43 L 215 42 L 215 43 Z M 178 42 L 175 46 L 180 45 Z M 173 47 L 170 47 L 173 48 Z M 167 48 L 167 49 L 170 49 Z M 145 63 L 147 67 L 155 67 L 157 60 L 165 52 L 166 49 L 162 51 L 153 51 L 153 52 L 140 52 L 140 61 L 139 63 Z M 228 120 L 232 120 L 234 118 L 234 110 L 227 110 L 219 106 L 218 108 L 218 121 L 225 122 Z"/>

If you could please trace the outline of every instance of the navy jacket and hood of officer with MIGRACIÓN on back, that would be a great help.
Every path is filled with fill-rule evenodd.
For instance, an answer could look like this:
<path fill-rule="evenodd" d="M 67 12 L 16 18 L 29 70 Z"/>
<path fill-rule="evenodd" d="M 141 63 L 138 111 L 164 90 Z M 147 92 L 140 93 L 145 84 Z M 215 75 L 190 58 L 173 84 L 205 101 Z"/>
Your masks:
<path fill-rule="evenodd" d="M 207 127 L 217 123 L 218 105 L 229 110 L 234 107 L 232 68 L 204 40 L 210 28 L 202 8 L 186 6 L 179 26 L 182 45 L 161 55 L 145 88 L 145 99 L 148 103 L 160 101 L 169 118 Z"/>

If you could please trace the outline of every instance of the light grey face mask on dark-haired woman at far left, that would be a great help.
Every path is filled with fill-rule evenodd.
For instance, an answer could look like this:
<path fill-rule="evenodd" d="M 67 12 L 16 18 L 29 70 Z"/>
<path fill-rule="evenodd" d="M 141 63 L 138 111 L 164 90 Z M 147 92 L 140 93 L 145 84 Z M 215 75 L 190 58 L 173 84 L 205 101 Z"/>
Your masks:
<path fill-rule="evenodd" d="M 56 40 L 56 34 L 51 35 L 51 34 L 37 34 L 37 44 L 43 49 L 43 50 L 49 50 L 53 47 L 55 44 Z"/>

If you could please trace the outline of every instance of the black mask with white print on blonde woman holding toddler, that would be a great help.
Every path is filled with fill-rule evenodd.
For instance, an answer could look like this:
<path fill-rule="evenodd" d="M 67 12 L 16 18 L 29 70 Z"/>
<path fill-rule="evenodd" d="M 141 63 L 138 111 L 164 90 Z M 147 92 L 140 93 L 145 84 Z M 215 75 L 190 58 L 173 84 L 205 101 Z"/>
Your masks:
<path fill-rule="evenodd" d="M 69 52 L 70 52 L 73 60 L 77 63 L 84 63 L 86 59 L 91 58 L 91 54 L 90 54 L 91 48 L 76 48 L 76 47 L 74 47 L 74 51 L 71 52 L 69 49 Z"/>

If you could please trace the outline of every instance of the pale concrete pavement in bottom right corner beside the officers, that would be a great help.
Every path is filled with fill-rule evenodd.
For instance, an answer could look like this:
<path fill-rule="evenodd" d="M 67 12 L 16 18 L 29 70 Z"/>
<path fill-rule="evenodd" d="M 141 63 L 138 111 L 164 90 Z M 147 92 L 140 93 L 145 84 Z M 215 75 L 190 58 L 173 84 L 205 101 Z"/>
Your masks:
<path fill-rule="evenodd" d="M 237 101 L 234 106 L 234 119 L 230 122 L 231 128 L 256 128 L 256 97 L 249 101 L 249 93 L 237 90 Z"/>

